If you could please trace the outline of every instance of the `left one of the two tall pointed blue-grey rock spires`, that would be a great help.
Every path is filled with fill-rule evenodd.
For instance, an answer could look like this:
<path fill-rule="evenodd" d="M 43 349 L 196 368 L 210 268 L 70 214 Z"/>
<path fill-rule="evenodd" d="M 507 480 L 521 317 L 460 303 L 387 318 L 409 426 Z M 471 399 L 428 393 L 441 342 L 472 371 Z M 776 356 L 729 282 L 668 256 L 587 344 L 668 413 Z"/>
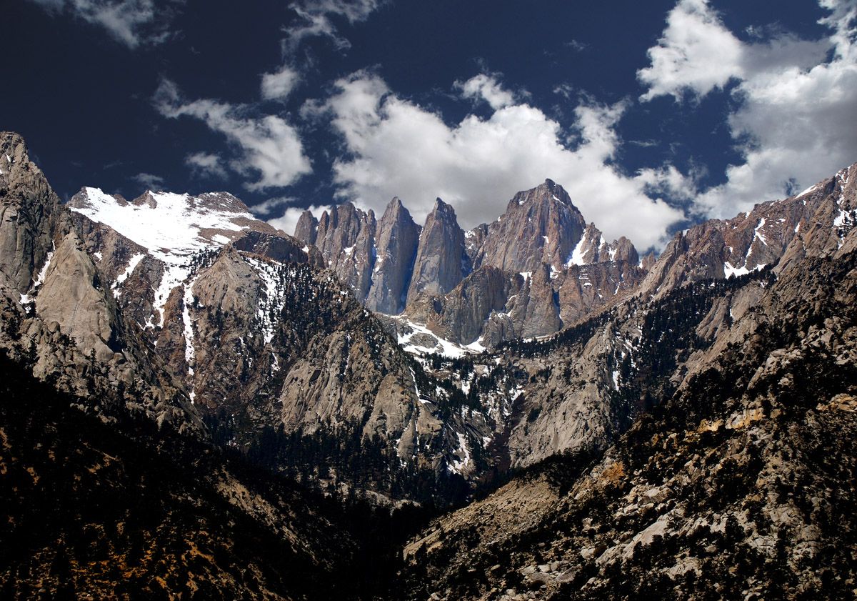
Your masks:
<path fill-rule="evenodd" d="M 370 310 L 396 315 L 405 309 L 419 239 L 420 227 L 393 198 L 378 223 L 377 259 L 366 298 Z"/>

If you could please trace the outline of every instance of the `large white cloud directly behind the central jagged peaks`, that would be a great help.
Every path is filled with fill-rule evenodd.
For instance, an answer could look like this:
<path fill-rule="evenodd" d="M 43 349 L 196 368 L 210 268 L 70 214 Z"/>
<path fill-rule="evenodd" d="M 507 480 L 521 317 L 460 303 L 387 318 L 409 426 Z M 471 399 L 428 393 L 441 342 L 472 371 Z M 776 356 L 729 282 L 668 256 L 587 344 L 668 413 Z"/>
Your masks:
<path fill-rule="evenodd" d="M 340 197 L 376 213 L 398 195 L 421 221 L 440 196 L 469 228 L 495 219 L 515 192 L 549 177 L 606 235 L 625 235 L 641 248 L 661 243 L 668 225 L 683 217 L 645 195 L 649 181 L 612 164 L 624 104 L 578 105 L 579 144 L 572 149 L 560 124 L 530 105 L 506 105 L 487 119 L 470 115 L 450 127 L 391 93 L 376 75 L 358 72 L 336 86 L 326 103 L 305 112 L 328 111 L 343 136 L 349 158 L 334 164 Z"/>

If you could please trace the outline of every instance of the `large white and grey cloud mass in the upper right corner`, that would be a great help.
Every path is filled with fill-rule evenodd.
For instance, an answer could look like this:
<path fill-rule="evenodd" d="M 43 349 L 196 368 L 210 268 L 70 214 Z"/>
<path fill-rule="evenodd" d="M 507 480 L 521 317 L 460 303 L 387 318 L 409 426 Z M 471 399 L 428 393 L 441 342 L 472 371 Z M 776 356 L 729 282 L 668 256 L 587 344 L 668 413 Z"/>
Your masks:
<path fill-rule="evenodd" d="M 740 41 L 704 0 L 681 0 L 638 73 L 644 100 L 701 97 L 734 78 L 728 127 L 743 155 L 727 181 L 695 198 L 700 213 L 729 217 L 756 202 L 782 198 L 857 160 L 857 3 L 821 0 L 824 39 L 783 33 Z M 689 29 L 680 34 L 680 26 Z M 719 40 L 720 49 L 709 49 Z"/>

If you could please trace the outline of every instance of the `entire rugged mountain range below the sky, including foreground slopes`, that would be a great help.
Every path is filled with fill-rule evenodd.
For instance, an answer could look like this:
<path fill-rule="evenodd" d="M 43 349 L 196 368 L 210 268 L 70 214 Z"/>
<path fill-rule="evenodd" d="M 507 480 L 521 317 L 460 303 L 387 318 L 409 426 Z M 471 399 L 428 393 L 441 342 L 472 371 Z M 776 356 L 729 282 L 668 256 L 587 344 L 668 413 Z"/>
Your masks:
<path fill-rule="evenodd" d="M 857 165 L 657 258 L 550 180 L 290 236 L 0 167 L 10 598 L 854 591 Z"/>

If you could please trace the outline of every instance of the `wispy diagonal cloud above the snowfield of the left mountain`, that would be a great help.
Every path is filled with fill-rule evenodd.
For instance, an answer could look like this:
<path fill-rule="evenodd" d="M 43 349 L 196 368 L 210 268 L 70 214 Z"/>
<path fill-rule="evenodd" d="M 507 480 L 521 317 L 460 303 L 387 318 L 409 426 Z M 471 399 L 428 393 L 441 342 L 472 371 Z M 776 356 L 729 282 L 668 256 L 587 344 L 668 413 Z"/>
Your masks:
<path fill-rule="evenodd" d="M 237 150 L 237 157 L 229 162 L 231 169 L 245 177 L 256 176 L 244 183 L 247 189 L 288 186 L 312 171 L 297 129 L 282 117 L 251 116 L 247 106 L 212 99 L 184 99 L 168 80 L 161 81 L 154 105 L 164 117 L 195 118 L 225 135 Z"/>

